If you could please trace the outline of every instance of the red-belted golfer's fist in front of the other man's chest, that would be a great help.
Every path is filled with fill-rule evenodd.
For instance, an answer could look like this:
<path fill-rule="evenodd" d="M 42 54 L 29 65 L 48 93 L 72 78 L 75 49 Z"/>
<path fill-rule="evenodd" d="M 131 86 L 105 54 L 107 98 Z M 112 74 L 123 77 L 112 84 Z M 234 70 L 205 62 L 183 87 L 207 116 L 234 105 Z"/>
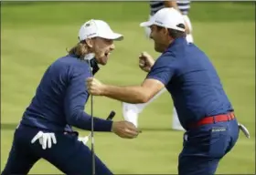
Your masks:
<path fill-rule="evenodd" d="M 104 85 L 101 83 L 101 81 L 94 77 L 89 77 L 86 79 L 86 87 L 88 92 L 94 96 L 101 96 L 104 89 Z"/>

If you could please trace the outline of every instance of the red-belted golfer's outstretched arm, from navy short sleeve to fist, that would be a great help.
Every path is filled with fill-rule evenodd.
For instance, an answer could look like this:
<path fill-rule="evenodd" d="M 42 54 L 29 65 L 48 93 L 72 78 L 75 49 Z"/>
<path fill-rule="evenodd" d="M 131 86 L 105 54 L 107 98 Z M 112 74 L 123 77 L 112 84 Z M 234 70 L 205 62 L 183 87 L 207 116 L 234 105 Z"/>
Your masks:
<path fill-rule="evenodd" d="M 89 93 L 127 103 L 145 103 L 168 84 L 176 70 L 176 58 L 165 54 L 158 58 L 141 86 L 119 87 L 104 85 L 96 78 L 87 79 Z"/>

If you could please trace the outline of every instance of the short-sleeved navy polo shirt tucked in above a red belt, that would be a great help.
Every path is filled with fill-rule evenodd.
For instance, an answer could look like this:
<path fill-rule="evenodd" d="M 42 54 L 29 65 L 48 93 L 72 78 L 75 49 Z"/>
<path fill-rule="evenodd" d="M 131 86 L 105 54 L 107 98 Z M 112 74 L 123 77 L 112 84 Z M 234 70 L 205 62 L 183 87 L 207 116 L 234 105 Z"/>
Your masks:
<path fill-rule="evenodd" d="M 187 44 L 186 38 L 171 43 L 146 78 L 165 85 L 185 129 L 201 118 L 233 111 L 215 67 L 197 46 Z"/>

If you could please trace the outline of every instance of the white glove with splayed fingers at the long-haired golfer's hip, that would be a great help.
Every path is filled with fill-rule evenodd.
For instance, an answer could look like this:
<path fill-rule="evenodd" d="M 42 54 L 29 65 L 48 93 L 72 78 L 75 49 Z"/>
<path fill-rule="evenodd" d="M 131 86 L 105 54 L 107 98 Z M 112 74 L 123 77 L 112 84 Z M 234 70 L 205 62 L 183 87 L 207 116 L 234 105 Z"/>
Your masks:
<path fill-rule="evenodd" d="M 44 133 L 39 131 L 37 135 L 31 140 L 31 143 L 35 143 L 39 139 L 40 145 L 42 145 L 42 149 L 50 149 L 52 142 L 53 144 L 57 143 L 56 137 L 54 133 Z M 48 146 L 48 147 L 47 147 Z"/>

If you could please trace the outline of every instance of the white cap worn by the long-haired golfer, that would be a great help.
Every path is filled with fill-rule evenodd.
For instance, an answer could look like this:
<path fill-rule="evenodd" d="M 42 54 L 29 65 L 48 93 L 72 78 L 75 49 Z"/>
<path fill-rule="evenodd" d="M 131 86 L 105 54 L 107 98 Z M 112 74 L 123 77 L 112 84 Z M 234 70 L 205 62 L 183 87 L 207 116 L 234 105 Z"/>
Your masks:
<path fill-rule="evenodd" d="M 80 41 L 92 38 L 102 37 L 112 40 L 123 40 L 123 35 L 114 33 L 111 27 L 104 21 L 91 19 L 80 27 Z"/>

